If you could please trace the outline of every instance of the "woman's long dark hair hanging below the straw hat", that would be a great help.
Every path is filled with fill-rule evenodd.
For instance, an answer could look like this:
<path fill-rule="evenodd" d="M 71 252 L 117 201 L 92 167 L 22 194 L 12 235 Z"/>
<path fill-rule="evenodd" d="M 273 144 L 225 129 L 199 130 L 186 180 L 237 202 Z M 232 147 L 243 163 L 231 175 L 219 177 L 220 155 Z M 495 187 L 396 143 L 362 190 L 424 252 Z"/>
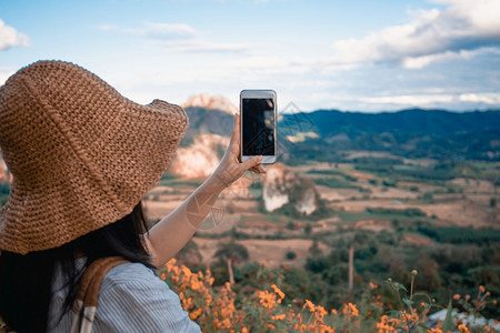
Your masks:
<path fill-rule="evenodd" d="M 83 271 L 97 259 L 120 255 L 131 262 L 152 268 L 142 234 L 147 224 L 139 202 L 119 221 L 88 233 L 60 248 L 26 255 L 2 252 L 0 255 L 0 315 L 17 332 L 46 332 L 52 296 L 52 279 L 57 264 L 62 265 L 68 296 L 63 312 L 70 311 Z M 83 268 L 76 264 L 76 254 L 84 255 Z"/>

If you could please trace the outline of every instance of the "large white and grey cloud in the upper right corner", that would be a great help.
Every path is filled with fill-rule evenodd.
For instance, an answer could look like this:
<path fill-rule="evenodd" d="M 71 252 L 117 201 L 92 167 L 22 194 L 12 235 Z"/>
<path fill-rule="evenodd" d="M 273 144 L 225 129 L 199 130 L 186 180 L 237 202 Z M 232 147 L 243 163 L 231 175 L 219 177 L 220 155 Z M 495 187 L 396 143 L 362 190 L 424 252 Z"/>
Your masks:
<path fill-rule="evenodd" d="M 441 0 L 438 9 L 413 12 L 410 23 L 333 43 L 333 63 L 391 61 L 422 68 L 434 61 L 467 59 L 500 46 L 500 0 Z"/>

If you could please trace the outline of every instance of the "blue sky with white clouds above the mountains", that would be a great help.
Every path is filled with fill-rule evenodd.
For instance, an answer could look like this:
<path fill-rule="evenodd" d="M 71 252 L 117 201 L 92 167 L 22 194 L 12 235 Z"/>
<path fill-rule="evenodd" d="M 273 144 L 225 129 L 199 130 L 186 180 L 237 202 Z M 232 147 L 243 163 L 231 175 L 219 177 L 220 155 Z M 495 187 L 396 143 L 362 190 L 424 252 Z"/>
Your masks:
<path fill-rule="evenodd" d="M 40 59 L 140 103 L 273 89 L 280 110 L 498 110 L 500 0 L 0 0 L 0 84 Z"/>

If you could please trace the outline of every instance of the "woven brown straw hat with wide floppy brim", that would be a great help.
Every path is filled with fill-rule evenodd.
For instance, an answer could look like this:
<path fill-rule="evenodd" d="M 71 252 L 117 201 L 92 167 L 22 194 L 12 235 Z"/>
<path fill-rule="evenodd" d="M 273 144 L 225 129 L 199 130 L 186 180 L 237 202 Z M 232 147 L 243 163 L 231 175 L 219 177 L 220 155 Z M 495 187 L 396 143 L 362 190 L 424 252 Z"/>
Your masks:
<path fill-rule="evenodd" d="M 134 103 L 76 64 L 22 68 L 0 88 L 0 147 L 13 178 L 0 249 L 57 248 L 127 215 L 187 128 L 180 107 Z"/>

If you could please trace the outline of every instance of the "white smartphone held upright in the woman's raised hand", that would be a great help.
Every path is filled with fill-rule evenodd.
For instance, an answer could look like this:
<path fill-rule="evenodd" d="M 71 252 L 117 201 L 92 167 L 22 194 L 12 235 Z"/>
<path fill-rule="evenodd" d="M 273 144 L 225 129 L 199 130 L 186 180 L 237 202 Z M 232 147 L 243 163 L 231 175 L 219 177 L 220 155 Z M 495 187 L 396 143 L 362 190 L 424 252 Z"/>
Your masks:
<path fill-rule="evenodd" d="M 277 147 L 277 97 L 274 90 L 242 90 L 241 162 L 262 155 L 262 163 L 274 163 Z"/>

